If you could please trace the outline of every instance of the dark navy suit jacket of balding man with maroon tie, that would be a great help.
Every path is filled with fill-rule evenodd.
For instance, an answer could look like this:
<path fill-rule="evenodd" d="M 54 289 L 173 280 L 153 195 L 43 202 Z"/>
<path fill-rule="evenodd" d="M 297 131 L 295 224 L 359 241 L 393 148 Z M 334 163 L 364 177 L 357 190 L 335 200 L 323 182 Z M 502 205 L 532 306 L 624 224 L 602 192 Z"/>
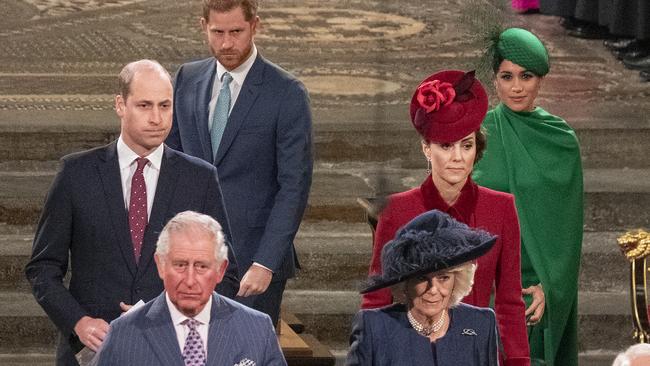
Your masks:
<path fill-rule="evenodd" d="M 59 364 L 76 364 L 68 340 L 75 341 L 71 334 L 81 317 L 111 321 L 121 313 L 120 301 L 133 304 L 160 294 L 163 285 L 153 260 L 158 234 L 170 218 L 185 210 L 214 217 L 228 235 L 215 168 L 165 147 L 136 265 L 116 142 L 62 159 L 38 224 L 32 258 L 25 268 L 34 297 L 62 332 Z M 231 266 L 220 290 L 234 296 L 237 268 L 230 258 Z M 71 276 L 66 288 L 63 277 L 68 260 Z"/>

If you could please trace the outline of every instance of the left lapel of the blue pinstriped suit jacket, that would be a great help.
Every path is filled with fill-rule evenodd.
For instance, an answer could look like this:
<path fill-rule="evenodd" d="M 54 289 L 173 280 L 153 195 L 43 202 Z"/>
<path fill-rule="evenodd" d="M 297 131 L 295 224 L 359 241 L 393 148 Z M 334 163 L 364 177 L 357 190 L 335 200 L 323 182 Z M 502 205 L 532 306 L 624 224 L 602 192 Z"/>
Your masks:
<path fill-rule="evenodd" d="M 161 365 L 183 364 L 183 356 L 178 346 L 176 330 L 172 324 L 171 315 L 165 301 L 165 293 L 160 294 L 145 314 L 146 324 L 143 324 L 144 336 L 149 342 L 153 353 L 160 360 Z"/>

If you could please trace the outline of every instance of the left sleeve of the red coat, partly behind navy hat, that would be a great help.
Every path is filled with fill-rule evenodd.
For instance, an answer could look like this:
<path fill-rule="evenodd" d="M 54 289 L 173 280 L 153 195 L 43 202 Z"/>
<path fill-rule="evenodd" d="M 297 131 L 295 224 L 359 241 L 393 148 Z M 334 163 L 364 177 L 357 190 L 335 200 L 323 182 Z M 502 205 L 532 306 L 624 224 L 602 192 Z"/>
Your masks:
<path fill-rule="evenodd" d="M 395 227 L 396 225 L 391 216 L 392 212 L 390 206 L 379 215 L 377 230 L 375 231 L 372 245 L 372 258 L 370 259 L 370 268 L 368 270 L 368 274 L 371 276 L 381 274 L 381 250 L 384 248 L 386 243 L 395 236 L 395 232 L 398 229 Z M 361 296 L 362 309 L 380 308 L 392 303 L 393 295 L 389 288 L 372 291 Z"/>

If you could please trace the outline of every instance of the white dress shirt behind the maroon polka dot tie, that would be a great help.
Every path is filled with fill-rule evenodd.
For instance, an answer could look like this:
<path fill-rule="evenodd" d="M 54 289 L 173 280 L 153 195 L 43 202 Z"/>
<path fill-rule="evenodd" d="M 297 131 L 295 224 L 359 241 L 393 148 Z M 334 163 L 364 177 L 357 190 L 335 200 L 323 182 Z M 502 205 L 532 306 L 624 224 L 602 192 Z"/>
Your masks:
<path fill-rule="evenodd" d="M 149 162 L 145 165 L 142 175 L 144 175 L 144 184 L 147 186 L 147 219 L 151 216 L 151 206 L 156 195 L 158 186 L 158 177 L 160 176 L 160 164 L 162 154 L 165 151 L 164 144 L 160 144 L 151 154 L 143 156 Z M 129 210 L 129 201 L 131 200 L 131 179 L 138 167 L 135 159 L 140 156 L 126 145 L 122 135 L 117 139 L 117 158 L 120 163 L 120 178 L 122 179 L 122 194 L 124 195 L 124 207 Z"/>

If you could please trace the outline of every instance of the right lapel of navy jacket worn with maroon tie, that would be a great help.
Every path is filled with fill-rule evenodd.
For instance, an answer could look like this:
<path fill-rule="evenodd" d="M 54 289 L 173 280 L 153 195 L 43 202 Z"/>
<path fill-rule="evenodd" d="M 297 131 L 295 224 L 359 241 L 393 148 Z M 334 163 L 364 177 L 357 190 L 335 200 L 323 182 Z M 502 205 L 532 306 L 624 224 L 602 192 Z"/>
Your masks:
<path fill-rule="evenodd" d="M 156 250 L 158 235 L 166 223 L 165 220 L 167 219 L 169 205 L 174 196 L 176 180 L 179 174 L 178 170 L 174 168 L 176 158 L 176 152 L 165 146 L 165 152 L 160 162 L 160 174 L 158 175 L 158 184 L 156 185 L 156 193 L 153 198 L 149 224 L 147 225 L 142 241 L 142 253 L 140 255 L 140 262 L 138 263 L 138 276 L 144 274 L 147 267 L 151 265 L 153 253 Z"/>

